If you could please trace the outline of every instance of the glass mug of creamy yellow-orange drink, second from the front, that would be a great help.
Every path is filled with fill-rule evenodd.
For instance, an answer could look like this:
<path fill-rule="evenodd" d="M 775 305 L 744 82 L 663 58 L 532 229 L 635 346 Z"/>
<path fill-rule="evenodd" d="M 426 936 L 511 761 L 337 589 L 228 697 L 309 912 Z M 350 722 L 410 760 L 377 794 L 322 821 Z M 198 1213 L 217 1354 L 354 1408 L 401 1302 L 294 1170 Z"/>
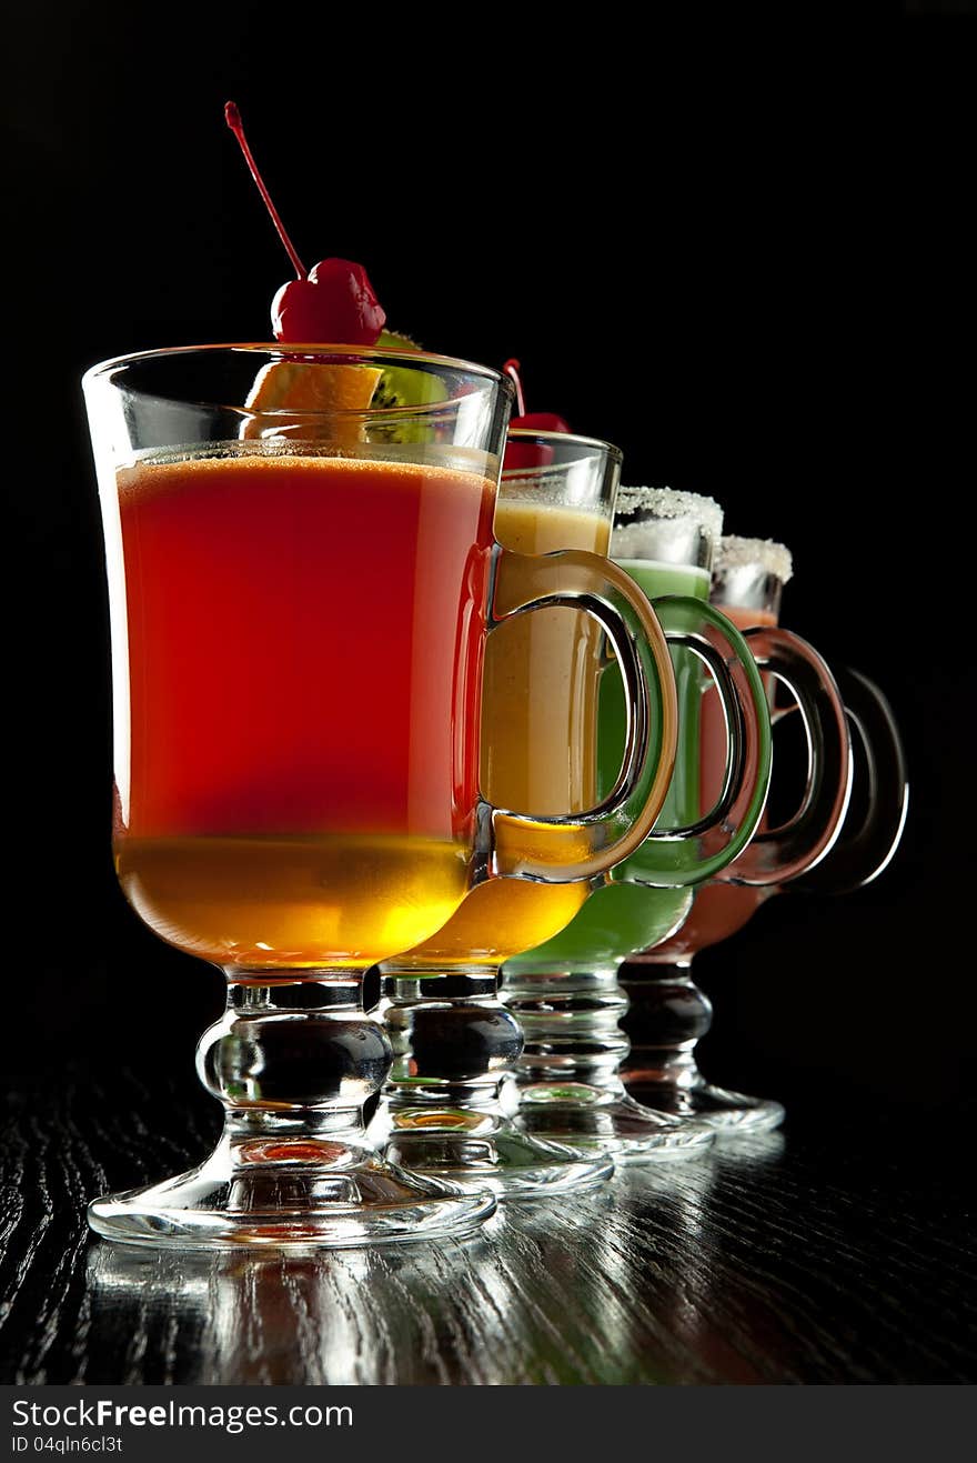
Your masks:
<path fill-rule="evenodd" d="M 606 556 L 620 464 L 607 442 L 510 432 L 496 538 L 528 554 L 586 549 Z M 603 641 L 600 625 L 567 606 L 521 616 L 490 636 L 481 786 L 493 803 L 548 815 L 584 813 L 600 802 Z M 638 843 L 632 832 L 632 851 Z M 623 856 L 620 847 L 611 863 Z M 388 1157 L 452 1182 L 487 1185 L 509 1200 L 579 1188 L 607 1172 L 604 1154 L 518 1131 L 500 1102 L 522 1046 L 518 1021 L 497 996 L 500 967 L 562 930 L 588 892 L 588 881 L 480 884 L 430 939 L 382 963 L 379 1014 L 395 1055 L 370 1134 L 385 1141 Z M 663 1148 L 711 1141 L 664 1113 L 657 1125 L 649 1144 Z"/>

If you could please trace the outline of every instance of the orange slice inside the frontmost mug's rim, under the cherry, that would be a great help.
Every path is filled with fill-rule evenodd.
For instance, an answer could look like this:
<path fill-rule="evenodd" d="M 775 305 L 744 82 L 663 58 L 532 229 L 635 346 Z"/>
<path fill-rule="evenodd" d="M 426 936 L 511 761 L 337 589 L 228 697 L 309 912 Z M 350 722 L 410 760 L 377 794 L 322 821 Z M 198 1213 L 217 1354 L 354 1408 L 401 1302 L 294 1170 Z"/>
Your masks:
<path fill-rule="evenodd" d="M 355 446 L 364 435 L 352 413 L 367 410 L 380 376 L 373 366 L 271 361 L 259 370 L 244 402 L 254 415 L 243 424 L 241 436 L 314 437 Z"/>

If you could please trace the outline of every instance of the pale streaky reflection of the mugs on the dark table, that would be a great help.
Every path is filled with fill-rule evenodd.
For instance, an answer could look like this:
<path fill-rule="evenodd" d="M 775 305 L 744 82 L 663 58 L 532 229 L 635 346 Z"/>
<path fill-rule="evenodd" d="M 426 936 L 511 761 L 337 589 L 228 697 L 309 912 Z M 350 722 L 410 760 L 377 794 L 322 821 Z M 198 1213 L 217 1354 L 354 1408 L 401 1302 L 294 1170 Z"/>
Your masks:
<path fill-rule="evenodd" d="M 108 1359 L 85 1380 L 108 1368 L 180 1384 L 758 1380 L 728 1339 L 715 1192 L 762 1178 L 782 1143 L 758 1134 L 623 1169 L 572 1203 L 512 1206 L 468 1241 L 253 1255 L 95 1242 L 89 1325 Z"/>

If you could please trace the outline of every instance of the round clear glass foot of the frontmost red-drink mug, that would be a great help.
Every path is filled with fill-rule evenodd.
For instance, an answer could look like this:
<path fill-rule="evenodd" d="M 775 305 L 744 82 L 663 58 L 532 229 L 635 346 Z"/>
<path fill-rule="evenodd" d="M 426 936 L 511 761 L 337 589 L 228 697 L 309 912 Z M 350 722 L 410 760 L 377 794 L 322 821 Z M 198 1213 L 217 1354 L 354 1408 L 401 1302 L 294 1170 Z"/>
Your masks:
<path fill-rule="evenodd" d="M 322 1140 L 227 1147 L 151 1188 L 95 1200 L 105 1239 L 173 1249 L 363 1245 L 462 1236 L 494 1213 L 494 1195 L 407 1173 Z"/>

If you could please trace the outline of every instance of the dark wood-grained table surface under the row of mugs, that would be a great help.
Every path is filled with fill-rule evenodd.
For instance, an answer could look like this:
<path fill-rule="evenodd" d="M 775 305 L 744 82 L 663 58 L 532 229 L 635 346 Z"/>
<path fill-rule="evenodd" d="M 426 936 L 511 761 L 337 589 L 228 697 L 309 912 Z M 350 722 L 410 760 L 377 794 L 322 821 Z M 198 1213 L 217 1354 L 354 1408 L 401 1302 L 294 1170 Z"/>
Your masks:
<path fill-rule="evenodd" d="M 189 1091 L 37 1084 L 6 1127 L 4 1383 L 977 1380 L 973 1148 L 926 1125 L 794 1124 L 464 1244 L 312 1258 L 88 1235 L 88 1198 L 203 1156 L 215 1110 Z"/>

